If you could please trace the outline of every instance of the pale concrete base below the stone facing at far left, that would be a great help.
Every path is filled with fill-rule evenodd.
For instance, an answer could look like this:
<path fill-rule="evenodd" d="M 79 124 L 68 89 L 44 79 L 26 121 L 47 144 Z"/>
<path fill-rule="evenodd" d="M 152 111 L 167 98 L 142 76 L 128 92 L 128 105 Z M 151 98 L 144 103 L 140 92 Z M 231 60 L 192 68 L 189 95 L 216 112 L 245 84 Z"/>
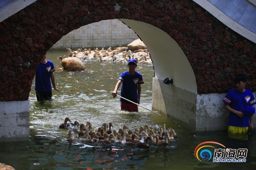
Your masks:
<path fill-rule="evenodd" d="M 0 102 L 0 142 L 29 140 L 29 100 Z"/>

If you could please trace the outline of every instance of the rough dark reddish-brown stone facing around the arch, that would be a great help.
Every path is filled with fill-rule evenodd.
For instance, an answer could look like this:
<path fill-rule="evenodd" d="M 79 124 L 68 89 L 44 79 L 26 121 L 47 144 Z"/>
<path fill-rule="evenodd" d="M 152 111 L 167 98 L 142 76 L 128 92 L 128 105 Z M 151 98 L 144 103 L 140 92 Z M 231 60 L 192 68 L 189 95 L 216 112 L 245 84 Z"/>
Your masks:
<path fill-rule="evenodd" d="M 38 0 L 1 22 L 0 101 L 28 100 L 38 62 L 63 36 L 118 18 L 148 23 L 172 37 L 192 66 L 199 94 L 227 92 L 239 73 L 256 91 L 256 44 L 192 0 L 100 2 Z"/>

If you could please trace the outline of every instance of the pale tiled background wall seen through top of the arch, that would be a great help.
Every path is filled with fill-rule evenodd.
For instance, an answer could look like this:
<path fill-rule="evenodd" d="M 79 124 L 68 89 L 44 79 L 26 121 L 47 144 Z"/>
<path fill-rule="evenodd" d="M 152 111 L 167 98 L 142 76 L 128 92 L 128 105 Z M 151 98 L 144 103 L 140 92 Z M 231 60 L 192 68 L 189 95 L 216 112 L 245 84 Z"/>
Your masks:
<path fill-rule="evenodd" d="M 126 47 L 136 39 L 138 39 L 137 34 L 122 21 L 103 20 L 71 31 L 56 42 L 51 49 Z"/>

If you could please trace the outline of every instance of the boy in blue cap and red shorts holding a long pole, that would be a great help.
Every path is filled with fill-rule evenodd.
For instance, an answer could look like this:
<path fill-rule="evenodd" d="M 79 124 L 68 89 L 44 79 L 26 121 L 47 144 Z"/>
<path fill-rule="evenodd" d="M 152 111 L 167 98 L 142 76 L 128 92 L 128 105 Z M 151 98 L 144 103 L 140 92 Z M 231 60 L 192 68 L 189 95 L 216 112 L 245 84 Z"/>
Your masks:
<path fill-rule="evenodd" d="M 140 104 L 140 93 L 141 84 L 143 84 L 142 75 L 135 71 L 137 67 L 137 60 L 131 58 L 128 60 L 128 71 L 123 72 L 115 86 L 115 90 L 112 92 L 112 96 L 115 98 L 117 90 L 122 83 L 121 96 L 125 99 L 131 100 L 132 102 Z M 137 112 L 138 106 L 134 103 L 128 102 L 127 100 L 120 98 L 121 110 L 129 112 Z"/>

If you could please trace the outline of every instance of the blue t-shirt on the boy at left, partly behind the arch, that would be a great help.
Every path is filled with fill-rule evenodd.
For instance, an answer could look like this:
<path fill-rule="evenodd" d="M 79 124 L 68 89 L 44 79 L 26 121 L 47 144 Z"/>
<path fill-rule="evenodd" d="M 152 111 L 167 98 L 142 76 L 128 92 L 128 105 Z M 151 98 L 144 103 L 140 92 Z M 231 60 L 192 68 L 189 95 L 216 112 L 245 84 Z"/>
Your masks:
<path fill-rule="evenodd" d="M 51 73 L 55 71 L 54 65 L 51 61 L 43 64 L 39 62 L 38 68 L 35 72 L 35 90 L 36 91 L 52 91 Z"/>

